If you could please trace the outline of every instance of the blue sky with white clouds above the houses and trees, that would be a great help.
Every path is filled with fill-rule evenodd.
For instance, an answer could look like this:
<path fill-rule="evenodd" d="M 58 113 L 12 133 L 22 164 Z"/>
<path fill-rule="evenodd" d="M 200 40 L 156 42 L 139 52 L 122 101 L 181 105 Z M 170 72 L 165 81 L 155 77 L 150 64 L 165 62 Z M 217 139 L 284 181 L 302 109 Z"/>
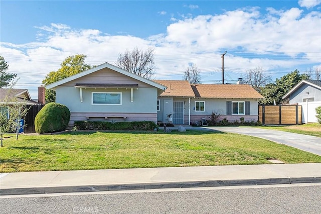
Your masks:
<path fill-rule="evenodd" d="M 278 78 L 321 68 L 321 0 L 1 1 L 0 54 L 35 90 L 68 56 L 114 64 L 135 47 L 155 49 L 155 79 L 182 79 L 194 63 L 203 83 L 235 83 L 261 67 Z"/>

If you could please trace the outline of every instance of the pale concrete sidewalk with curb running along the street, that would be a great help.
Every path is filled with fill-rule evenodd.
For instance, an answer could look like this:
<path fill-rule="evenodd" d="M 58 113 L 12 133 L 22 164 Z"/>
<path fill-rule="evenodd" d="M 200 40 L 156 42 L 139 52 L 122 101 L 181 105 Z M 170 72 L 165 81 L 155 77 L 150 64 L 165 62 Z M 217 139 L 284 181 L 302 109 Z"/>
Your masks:
<path fill-rule="evenodd" d="M 0 195 L 321 182 L 321 163 L 18 172 Z"/>

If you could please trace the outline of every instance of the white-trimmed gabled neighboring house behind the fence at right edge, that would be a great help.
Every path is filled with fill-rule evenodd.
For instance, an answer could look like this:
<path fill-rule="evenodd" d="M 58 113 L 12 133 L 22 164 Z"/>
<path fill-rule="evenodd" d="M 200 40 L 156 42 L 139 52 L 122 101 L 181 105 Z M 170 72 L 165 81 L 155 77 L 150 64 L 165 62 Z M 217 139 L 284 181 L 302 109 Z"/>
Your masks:
<path fill-rule="evenodd" d="M 321 101 L 321 80 L 301 80 L 282 97 L 282 99 L 287 98 L 290 104 Z"/>

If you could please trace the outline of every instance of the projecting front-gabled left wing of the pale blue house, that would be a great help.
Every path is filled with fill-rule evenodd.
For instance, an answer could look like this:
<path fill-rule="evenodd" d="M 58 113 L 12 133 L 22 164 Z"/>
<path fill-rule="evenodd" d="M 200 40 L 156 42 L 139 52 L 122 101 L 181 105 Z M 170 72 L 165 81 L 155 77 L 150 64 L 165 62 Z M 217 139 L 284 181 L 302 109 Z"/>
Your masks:
<path fill-rule="evenodd" d="M 157 121 L 157 96 L 166 86 L 104 63 L 46 86 L 82 120 Z"/>

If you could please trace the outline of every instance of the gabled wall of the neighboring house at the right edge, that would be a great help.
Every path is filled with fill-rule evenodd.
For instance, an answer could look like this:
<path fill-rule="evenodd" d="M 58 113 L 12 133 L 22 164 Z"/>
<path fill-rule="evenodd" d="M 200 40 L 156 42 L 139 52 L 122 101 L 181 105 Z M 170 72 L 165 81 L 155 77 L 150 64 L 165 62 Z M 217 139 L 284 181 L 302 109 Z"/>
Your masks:
<path fill-rule="evenodd" d="M 321 101 L 321 90 L 308 84 L 303 84 L 290 94 L 290 104 L 303 102 L 303 98 L 314 98 L 314 101 Z"/>

